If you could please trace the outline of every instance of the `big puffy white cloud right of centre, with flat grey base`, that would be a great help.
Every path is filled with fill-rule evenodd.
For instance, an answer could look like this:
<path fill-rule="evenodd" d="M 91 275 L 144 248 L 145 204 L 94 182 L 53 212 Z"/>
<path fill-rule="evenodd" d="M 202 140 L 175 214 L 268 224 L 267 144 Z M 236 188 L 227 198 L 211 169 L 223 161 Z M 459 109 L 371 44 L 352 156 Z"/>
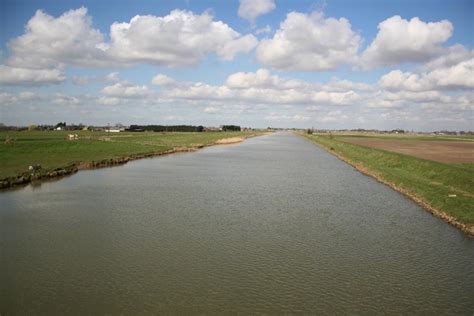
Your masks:
<path fill-rule="evenodd" d="M 321 12 L 291 12 L 271 39 L 257 47 L 257 61 L 293 71 L 327 71 L 356 60 L 361 37 L 345 18 L 325 18 Z"/>

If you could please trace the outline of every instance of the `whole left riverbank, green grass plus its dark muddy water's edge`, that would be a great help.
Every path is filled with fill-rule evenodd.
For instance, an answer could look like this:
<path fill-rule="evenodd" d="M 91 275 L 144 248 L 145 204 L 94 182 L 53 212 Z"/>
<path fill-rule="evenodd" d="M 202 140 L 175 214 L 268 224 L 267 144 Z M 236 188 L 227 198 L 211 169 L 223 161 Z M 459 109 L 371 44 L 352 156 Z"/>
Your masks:
<path fill-rule="evenodd" d="M 117 166 L 142 158 L 235 144 L 262 134 L 263 132 L 222 132 L 110 135 L 83 132 L 74 141 L 65 140 L 67 135 L 57 132 L 0 135 L 4 138 L 0 145 L 0 190 L 61 178 L 82 169 Z M 15 136 L 13 144 L 5 144 L 7 137 L 15 139 Z M 28 170 L 30 165 L 40 165 L 41 168 L 31 171 Z"/>

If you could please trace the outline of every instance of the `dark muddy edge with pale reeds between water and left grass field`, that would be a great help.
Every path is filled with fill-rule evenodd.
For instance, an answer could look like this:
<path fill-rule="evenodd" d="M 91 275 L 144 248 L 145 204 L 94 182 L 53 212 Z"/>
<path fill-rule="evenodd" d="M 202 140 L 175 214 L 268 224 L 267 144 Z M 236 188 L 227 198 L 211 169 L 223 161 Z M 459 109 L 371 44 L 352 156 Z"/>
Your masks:
<path fill-rule="evenodd" d="M 140 155 L 130 155 L 130 156 L 108 158 L 108 159 L 95 160 L 95 161 L 94 160 L 86 161 L 86 162 L 81 161 L 81 162 L 70 164 L 65 167 L 60 167 L 60 168 L 56 168 L 56 169 L 48 170 L 48 171 L 41 171 L 41 170 L 37 172 L 27 171 L 15 177 L 0 179 L 0 190 L 22 187 L 22 186 L 26 186 L 32 182 L 37 182 L 37 181 L 59 179 L 65 176 L 72 175 L 76 173 L 77 171 L 84 170 L 84 169 L 106 168 L 106 167 L 111 167 L 111 166 L 123 165 L 129 161 L 142 159 L 142 158 L 151 158 L 151 157 L 169 155 L 169 154 L 179 153 L 179 152 L 193 152 L 200 148 L 214 146 L 214 145 L 240 143 L 244 141 L 246 138 L 255 137 L 255 136 L 258 136 L 258 135 L 249 135 L 247 137 L 223 138 L 223 139 L 217 140 L 214 143 L 207 144 L 207 145 L 197 144 L 191 147 L 175 147 L 171 150 L 162 151 L 162 152 L 151 152 L 151 153 L 140 154 Z"/>

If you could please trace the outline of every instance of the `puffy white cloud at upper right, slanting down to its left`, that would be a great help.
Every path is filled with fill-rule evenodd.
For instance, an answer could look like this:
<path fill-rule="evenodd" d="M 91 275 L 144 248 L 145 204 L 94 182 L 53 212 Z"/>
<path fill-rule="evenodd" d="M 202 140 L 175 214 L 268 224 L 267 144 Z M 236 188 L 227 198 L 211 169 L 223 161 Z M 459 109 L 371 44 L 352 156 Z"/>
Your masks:
<path fill-rule="evenodd" d="M 427 61 L 443 52 L 441 44 L 453 32 L 447 20 L 423 22 L 414 17 L 405 20 L 396 15 L 378 25 L 378 33 L 361 56 L 362 69 L 400 63 Z"/>

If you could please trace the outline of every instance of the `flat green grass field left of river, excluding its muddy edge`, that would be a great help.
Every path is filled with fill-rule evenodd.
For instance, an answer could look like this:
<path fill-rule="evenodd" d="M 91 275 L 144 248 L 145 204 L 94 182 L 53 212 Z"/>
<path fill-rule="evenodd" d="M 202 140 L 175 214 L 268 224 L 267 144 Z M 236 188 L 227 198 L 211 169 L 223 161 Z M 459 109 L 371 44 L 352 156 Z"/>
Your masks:
<path fill-rule="evenodd" d="M 43 171 L 73 163 L 160 153 L 176 147 L 208 145 L 222 138 L 248 137 L 259 132 L 106 133 L 89 131 L 0 132 L 0 179 L 17 176 L 32 164 Z M 77 134 L 79 140 L 66 140 Z M 13 138 L 12 144 L 6 144 Z"/>

